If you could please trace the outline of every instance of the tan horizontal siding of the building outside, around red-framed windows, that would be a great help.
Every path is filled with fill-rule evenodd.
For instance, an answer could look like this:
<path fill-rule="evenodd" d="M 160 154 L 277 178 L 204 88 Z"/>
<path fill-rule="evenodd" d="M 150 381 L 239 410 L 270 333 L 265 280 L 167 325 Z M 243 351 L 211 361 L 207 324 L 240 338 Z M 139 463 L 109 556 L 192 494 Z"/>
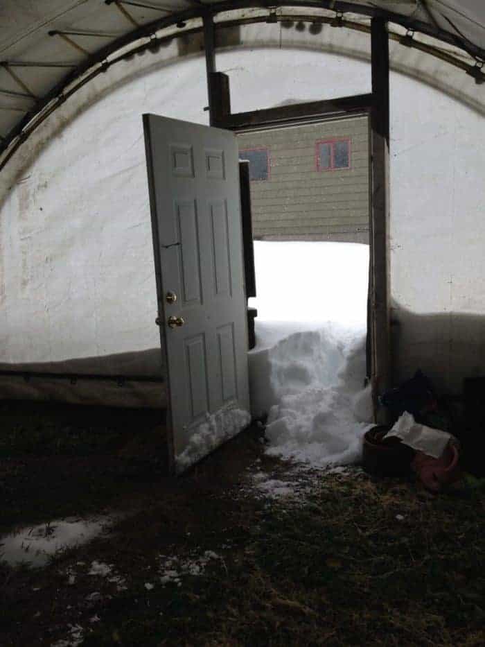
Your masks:
<path fill-rule="evenodd" d="M 351 168 L 317 171 L 316 143 L 351 140 Z M 367 242 L 369 136 L 367 119 L 238 135 L 239 148 L 267 148 L 270 177 L 251 182 L 256 239 Z"/>

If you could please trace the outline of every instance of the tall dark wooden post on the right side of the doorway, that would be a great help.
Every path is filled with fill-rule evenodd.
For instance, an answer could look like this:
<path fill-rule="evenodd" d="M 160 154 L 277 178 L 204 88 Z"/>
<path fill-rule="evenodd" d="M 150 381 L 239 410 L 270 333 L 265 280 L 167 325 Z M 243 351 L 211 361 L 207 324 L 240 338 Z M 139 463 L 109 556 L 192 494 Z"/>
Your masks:
<path fill-rule="evenodd" d="M 387 24 L 371 24 L 371 344 L 372 390 L 391 386 L 389 277 L 389 38 Z M 378 422 L 385 422 L 380 417 Z"/>

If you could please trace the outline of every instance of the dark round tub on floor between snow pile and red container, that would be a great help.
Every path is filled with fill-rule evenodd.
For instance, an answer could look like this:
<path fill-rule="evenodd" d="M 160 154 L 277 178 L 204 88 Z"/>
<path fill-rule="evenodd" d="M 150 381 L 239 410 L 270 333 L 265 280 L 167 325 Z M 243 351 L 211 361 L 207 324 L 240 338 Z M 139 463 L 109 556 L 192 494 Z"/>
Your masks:
<path fill-rule="evenodd" d="M 408 474 L 414 449 L 403 445 L 400 438 L 386 438 L 390 426 L 378 425 L 364 434 L 363 463 L 369 474 L 404 476 Z"/>

